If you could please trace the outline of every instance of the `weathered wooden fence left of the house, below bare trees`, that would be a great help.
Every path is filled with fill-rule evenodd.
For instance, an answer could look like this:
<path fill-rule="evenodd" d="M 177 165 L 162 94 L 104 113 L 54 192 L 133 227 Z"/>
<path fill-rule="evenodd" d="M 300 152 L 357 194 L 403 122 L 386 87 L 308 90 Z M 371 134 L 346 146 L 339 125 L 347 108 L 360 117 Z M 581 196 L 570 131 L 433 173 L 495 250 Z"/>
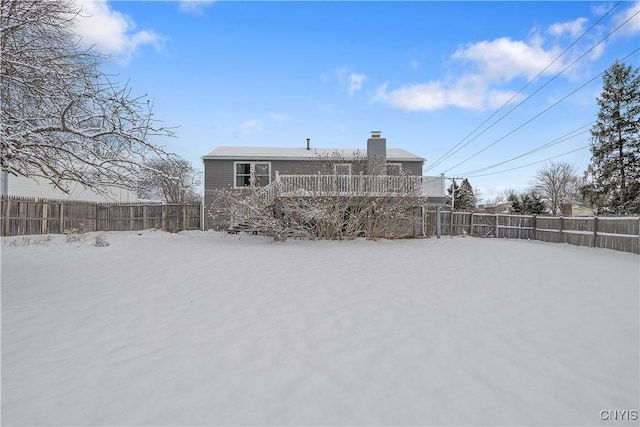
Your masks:
<path fill-rule="evenodd" d="M 126 231 L 200 229 L 197 204 L 109 204 L 2 197 L 2 236 L 65 233 L 71 230 Z"/>

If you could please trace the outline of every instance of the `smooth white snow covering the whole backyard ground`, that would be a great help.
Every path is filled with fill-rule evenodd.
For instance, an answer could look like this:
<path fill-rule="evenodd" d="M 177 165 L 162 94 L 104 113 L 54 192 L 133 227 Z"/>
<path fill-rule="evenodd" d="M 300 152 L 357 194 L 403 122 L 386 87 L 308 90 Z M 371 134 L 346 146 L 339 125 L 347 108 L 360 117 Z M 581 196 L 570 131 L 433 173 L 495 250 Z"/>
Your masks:
<path fill-rule="evenodd" d="M 2 425 L 601 425 L 639 409 L 637 255 L 97 235 L 2 238 Z"/>

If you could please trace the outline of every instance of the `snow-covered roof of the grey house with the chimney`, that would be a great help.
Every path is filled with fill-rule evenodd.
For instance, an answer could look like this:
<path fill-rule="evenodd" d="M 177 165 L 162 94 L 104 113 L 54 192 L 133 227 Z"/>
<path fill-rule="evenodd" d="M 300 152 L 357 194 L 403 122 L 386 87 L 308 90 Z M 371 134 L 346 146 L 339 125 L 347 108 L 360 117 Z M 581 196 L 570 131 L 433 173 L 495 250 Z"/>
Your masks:
<path fill-rule="evenodd" d="M 309 160 L 318 157 L 331 157 L 338 154 L 345 160 L 355 157 L 366 157 L 367 150 L 351 148 L 311 148 L 301 147 L 230 147 L 221 146 L 202 156 L 202 159 L 229 160 Z M 416 156 L 402 148 L 387 148 L 388 161 L 424 162 L 424 158 Z"/>

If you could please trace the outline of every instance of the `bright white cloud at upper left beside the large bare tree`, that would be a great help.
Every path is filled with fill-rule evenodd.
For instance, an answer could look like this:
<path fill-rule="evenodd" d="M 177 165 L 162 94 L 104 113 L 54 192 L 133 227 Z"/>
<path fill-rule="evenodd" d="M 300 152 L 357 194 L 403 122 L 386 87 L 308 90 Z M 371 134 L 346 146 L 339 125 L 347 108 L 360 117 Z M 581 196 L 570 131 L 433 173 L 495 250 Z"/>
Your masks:
<path fill-rule="evenodd" d="M 127 62 L 143 45 L 161 48 L 162 38 L 152 30 L 135 31 L 133 20 L 111 9 L 106 0 L 76 0 L 82 7 L 76 22 L 81 43 L 94 46 L 98 52 Z"/>

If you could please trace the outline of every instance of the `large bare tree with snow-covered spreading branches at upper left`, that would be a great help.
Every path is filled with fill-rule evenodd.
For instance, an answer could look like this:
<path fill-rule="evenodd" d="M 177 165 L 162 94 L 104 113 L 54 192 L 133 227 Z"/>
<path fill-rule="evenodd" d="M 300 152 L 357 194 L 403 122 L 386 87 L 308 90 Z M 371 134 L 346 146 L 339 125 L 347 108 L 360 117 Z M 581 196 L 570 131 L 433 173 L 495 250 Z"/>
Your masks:
<path fill-rule="evenodd" d="M 145 157 L 165 154 L 149 139 L 173 135 L 150 100 L 112 81 L 99 69 L 106 58 L 80 47 L 73 1 L 0 5 L 2 171 L 63 191 L 72 182 L 135 189 Z"/>

